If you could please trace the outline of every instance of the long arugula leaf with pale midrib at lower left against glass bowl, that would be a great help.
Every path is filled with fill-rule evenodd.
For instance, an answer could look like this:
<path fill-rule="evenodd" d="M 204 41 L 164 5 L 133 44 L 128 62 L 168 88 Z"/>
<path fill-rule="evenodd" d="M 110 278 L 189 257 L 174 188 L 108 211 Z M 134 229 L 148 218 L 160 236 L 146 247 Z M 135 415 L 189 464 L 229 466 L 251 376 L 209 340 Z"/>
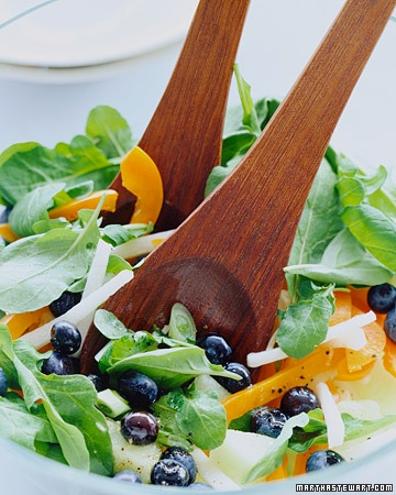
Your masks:
<path fill-rule="evenodd" d="M 26 341 L 12 342 L 4 324 L 0 324 L 0 346 L 16 370 L 28 409 L 36 407 L 37 400 L 43 404 L 68 464 L 110 474 L 110 437 L 105 417 L 95 407 L 97 393 L 91 382 L 82 375 L 42 374 L 42 354 Z"/>

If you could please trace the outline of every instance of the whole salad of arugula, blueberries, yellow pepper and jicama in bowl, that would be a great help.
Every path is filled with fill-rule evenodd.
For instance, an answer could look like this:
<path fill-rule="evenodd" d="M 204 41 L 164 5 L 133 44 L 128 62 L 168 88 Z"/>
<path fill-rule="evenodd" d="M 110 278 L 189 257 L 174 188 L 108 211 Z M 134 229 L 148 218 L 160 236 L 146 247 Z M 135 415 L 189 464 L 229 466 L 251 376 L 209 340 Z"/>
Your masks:
<path fill-rule="evenodd" d="M 279 103 L 254 102 L 235 75 L 242 105 L 228 114 L 206 194 Z M 353 462 L 395 441 L 396 191 L 386 168 L 369 174 L 328 148 L 273 337 L 235 363 L 216 329 L 200 336 L 180 304 L 154 329 L 125 328 L 100 308 L 172 233 L 153 233 L 161 180 L 135 142 L 102 106 L 70 143 L 19 143 L 0 155 L 0 435 L 116 480 L 222 491 Z M 120 166 L 139 212 L 101 227 Z M 92 321 L 108 343 L 86 376 L 79 352 Z"/>

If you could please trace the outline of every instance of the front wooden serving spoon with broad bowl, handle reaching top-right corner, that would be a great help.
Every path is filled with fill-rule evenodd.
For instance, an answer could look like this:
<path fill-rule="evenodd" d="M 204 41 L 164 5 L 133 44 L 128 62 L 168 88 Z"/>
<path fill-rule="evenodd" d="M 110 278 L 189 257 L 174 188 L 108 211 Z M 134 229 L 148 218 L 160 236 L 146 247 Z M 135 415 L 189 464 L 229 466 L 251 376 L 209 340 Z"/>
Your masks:
<path fill-rule="evenodd" d="M 266 345 L 298 221 L 336 124 L 395 0 L 348 0 L 234 172 L 160 245 L 105 308 L 132 330 L 163 327 L 180 301 L 234 360 Z M 188 184 L 186 184 L 188 188 Z M 103 344 L 92 327 L 87 369 Z"/>

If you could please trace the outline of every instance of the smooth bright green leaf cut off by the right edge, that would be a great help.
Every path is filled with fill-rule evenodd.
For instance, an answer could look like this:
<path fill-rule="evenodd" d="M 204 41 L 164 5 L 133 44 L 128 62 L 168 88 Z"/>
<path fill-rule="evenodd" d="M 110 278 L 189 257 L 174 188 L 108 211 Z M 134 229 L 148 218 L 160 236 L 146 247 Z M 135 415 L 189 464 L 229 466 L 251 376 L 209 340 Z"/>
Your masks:
<path fill-rule="evenodd" d="M 370 205 L 349 206 L 341 213 L 350 232 L 380 263 L 396 272 L 396 223 Z"/>

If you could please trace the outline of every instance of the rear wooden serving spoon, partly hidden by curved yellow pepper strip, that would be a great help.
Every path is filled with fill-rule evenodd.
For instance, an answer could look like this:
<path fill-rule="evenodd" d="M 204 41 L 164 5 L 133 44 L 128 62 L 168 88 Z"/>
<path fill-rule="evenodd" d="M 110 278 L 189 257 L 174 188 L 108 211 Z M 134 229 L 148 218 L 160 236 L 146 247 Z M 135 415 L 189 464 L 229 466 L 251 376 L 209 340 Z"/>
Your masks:
<path fill-rule="evenodd" d="M 197 208 L 209 172 L 220 163 L 232 68 L 249 4 L 200 0 L 168 86 L 140 140 L 164 185 L 156 230 L 179 226 Z M 102 224 L 129 223 L 135 197 L 120 175 L 110 188 L 119 193 L 117 209 L 103 212 Z"/>

